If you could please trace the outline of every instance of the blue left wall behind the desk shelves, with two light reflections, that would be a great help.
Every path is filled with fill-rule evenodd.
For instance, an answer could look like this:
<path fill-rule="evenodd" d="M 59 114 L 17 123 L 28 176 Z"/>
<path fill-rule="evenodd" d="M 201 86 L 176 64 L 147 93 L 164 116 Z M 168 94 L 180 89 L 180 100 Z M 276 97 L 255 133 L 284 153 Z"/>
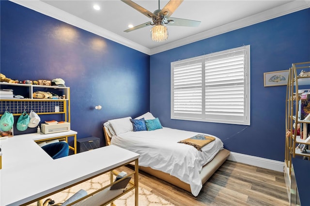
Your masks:
<path fill-rule="evenodd" d="M 62 78 L 78 138 L 103 138 L 108 119 L 149 111 L 148 55 L 10 1 L 0 6 L 0 72 L 18 80 Z"/>

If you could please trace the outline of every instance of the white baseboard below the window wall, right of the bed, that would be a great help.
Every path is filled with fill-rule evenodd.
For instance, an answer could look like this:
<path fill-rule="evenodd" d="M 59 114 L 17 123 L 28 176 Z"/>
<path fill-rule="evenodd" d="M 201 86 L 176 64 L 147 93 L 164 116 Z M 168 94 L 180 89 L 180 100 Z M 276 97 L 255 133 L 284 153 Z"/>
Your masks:
<path fill-rule="evenodd" d="M 261 157 L 255 157 L 236 152 L 231 152 L 230 156 L 228 157 L 228 160 L 234 162 L 241 162 L 257 167 L 263 167 L 265 169 L 275 170 L 279 172 L 283 172 L 284 169 L 284 162 L 269 160 Z"/>

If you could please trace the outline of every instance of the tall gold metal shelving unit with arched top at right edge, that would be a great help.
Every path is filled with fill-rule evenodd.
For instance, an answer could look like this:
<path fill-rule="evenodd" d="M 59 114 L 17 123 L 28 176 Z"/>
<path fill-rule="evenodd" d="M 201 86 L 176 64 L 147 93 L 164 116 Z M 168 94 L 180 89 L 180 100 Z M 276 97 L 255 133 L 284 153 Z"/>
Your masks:
<path fill-rule="evenodd" d="M 291 178 L 292 173 L 294 174 L 294 168 L 292 164 L 292 158 L 295 156 L 302 156 L 304 159 L 310 158 L 310 150 L 305 149 L 305 152 L 301 152 L 298 145 L 310 145 L 310 142 L 306 143 L 305 139 L 308 137 L 308 124 L 310 120 L 304 120 L 300 117 L 300 103 L 301 97 L 298 91 L 300 89 L 310 89 L 310 76 L 307 74 L 302 74 L 302 71 L 310 72 L 310 61 L 293 63 L 292 67 L 289 69 L 289 77 L 286 88 L 286 106 L 285 106 L 285 165 L 284 165 L 284 177 L 286 182 L 287 191 L 289 194 L 296 192 L 292 191 Z M 300 87 L 302 86 L 302 87 Z M 309 86 L 308 88 L 306 88 Z M 309 101 L 310 100 L 304 100 Z M 297 125 L 300 125 L 300 134 L 297 135 Z M 289 131 L 289 132 L 288 132 Z M 294 131 L 294 132 L 293 132 Z"/>

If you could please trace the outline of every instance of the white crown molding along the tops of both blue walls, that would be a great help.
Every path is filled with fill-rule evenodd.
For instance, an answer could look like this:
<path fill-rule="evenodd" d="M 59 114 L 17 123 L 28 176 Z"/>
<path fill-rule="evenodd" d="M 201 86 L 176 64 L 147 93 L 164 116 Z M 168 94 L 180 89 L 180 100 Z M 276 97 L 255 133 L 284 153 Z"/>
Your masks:
<path fill-rule="evenodd" d="M 55 19 L 58 19 L 60 21 L 63 21 L 65 23 L 71 24 L 80 29 L 87 30 L 89 32 L 92 32 L 94 34 L 107 38 L 116 43 L 123 44 L 125 46 L 128 46 L 132 49 L 135 49 L 147 55 L 157 54 L 157 53 L 167 51 L 167 50 L 179 47 L 179 46 L 183 46 L 183 45 L 194 43 L 194 42 L 197 42 L 197 41 L 200 41 L 206 38 L 210 38 L 210 37 L 213 37 L 219 34 L 223 34 L 223 33 L 226 33 L 232 30 L 241 29 L 241 28 L 253 25 L 253 24 L 257 24 L 263 21 L 267 21 L 267 20 L 282 16 L 282 15 L 287 15 L 293 12 L 297 12 L 303 9 L 310 8 L 310 0 L 294 0 L 289 3 L 283 4 L 279 7 L 266 10 L 259 14 L 251 15 L 246 18 L 234 21 L 232 23 L 225 24 L 225 25 L 219 26 L 214 29 L 209 29 L 201 33 L 192 35 L 190 37 L 186 37 L 186 38 L 150 49 L 140 44 L 137 44 L 133 41 L 130 41 L 124 37 L 121 37 L 120 35 L 117 35 L 113 32 L 110 32 L 107 29 L 98 27 L 88 21 L 85 21 L 74 15 L 68 14 L 53 6 L 50 6 L 49 4 L 44 3 L 43 1 L 40 1 L 40 0 L 10 0 L 10 1 L 16 4 L 19 4 L 21 6 L 24 6 L 26 8 L 29 8 L 31 10 L 34 10 L 36 12 L 39 12 L 41 14 L 44 14 L 44 15 L 53 17 Z"/>

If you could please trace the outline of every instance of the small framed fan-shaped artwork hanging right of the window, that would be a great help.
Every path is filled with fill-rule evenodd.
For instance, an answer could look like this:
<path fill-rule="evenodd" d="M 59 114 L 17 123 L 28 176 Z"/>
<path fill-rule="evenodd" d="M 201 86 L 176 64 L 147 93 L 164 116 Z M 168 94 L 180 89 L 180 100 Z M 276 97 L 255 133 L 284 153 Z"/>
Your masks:
<path fill-rule="evenodd" d="M 265 72 L 263 74 L 263 86 L 283 86 L 287 85 L 289 79 L 289 70 L 282 70 L 276 72 Z"/>

